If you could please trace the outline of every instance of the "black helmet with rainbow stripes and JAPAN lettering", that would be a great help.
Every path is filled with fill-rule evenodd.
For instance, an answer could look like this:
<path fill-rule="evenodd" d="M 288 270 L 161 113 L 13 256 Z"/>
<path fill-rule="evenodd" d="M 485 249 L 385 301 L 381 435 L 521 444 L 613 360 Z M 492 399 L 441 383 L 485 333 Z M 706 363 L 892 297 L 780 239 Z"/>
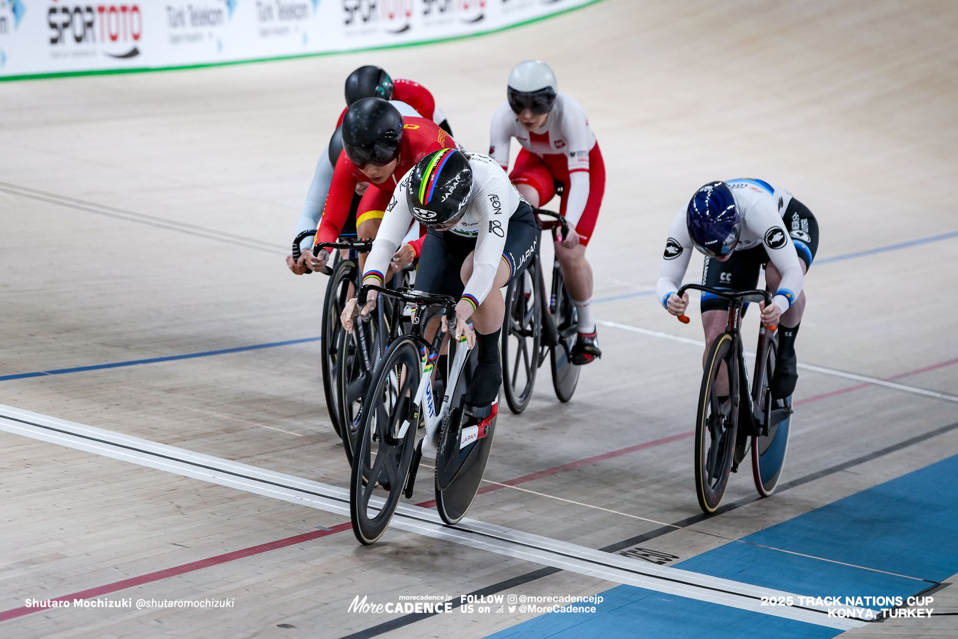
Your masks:
<path fill-rule="evenodd" d="M 420 160 L 409 173 L 406 203 L 426 226 L 444 226 L 466 213 L 472 194 L 472 168 L 455 148 L 441 148 Z"/>

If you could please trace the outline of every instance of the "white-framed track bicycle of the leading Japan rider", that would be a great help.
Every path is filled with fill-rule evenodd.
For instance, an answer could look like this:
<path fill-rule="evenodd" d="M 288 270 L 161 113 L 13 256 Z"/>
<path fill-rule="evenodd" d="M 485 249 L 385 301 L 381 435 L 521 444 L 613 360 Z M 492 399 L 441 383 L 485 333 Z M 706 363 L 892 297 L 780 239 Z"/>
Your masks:
<path fill-rule="evenodd" d="M 437 364 L 445 335 L 449 334 L 440 331 L 437 324 L 445 319 L 448 327 L 456 326 L 456 298 L 364 285 L 359 291 L 360 307 L 371 290 L 378 291 L 380 300 L 392 297 L 409 305 L 412 320 L 408 330 L 390 342 L 386 355 L 376 365 L 358 421 L 355 457 L 362 463 L 353 465 L 350 512 L 354 535 L 363 544 L 375 543 L 382 536 L 401 495 L 412 498 L 422 445 L 427 439 L 438 448 L 436 509 L 450 525 L 466 516 L 489 461 L 498 415 L 497 400 L 488 406 L 465 404 L 464 396 L 477 366 L 476 351 L 469 349 L 465 335 L 449 339 L 447 369 L 437 370 L 445 368 Z M 425 336 L 427 327 L 435 330 L 431 340 Z M 445 381 L 441 400 L 437 400 L 440 384 L 435 374 Z M 417 445 L 416 433 L 422 426 L 425 437 Z M 368 468 L 365 475 L 363 467 Z"/>

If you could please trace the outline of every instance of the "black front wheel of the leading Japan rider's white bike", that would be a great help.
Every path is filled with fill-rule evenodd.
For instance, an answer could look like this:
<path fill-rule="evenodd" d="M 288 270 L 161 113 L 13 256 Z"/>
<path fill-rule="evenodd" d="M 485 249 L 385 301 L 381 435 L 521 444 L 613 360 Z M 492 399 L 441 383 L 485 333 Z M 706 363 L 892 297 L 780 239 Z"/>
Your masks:
<path fill-rule="evenodd" d="M 392 344 L 373 374 L 350 480 L 353 533 L 360 543 L 375 543 L 399 504 L 415 451 L 419 424 L 409 422 L 410 404 L 420 377 L 419 348 L 408 337 Z"/>

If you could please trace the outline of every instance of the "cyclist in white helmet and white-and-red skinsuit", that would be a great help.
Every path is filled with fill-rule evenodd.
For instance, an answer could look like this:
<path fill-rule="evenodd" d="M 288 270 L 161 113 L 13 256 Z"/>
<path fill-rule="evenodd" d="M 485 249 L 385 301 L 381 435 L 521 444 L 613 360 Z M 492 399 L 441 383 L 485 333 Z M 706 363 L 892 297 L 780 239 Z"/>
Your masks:
<path fill-rule="evenodd" d="M 522 146 L 509 177 L 534 208 L 561 188 L 561 213 L 569 235 L 555 244 L 565 285 L 576 305 L 579 336 L 573 363 L 602 356 L 592 319 L 592 267 L 585 246 L 599 217 L 605 191 L 605 165 L 596 136 L 580 103 L 557 90 L 556 76 L 545 62 L 519 63 L 509 78 L 509 100 L 492 117 L 490 156 L 509 166 L 510 138 Z"/>

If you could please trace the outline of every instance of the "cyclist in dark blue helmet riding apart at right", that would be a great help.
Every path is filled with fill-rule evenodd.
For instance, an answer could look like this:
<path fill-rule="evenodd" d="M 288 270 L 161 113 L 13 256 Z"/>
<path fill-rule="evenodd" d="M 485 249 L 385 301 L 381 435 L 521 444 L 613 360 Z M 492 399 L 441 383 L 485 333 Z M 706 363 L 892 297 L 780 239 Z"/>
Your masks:
<path fill-rule="evenodd" d="M 770 387 L 774 398 L 789 397 L 798 379 L 795 336 L 805 312 L 805 273 L 818 249 L 815 217 L 790 193 L 763 180 L 741 178 L 700 188 L 675 216 L 659 270 L 657 297 L 673 315 L 688 306 L 688 293 L 682 298 L 675 293 L 693 246 L 706 256 L 703 285 L 755 288 L 764 267 L 774 299 L 767 308 L 760 305 L 762 322 L 779 326 L 778 364 Z M 702 293 L 701 311 L 707 354 L 725 330 L 728 301 Z"/>

